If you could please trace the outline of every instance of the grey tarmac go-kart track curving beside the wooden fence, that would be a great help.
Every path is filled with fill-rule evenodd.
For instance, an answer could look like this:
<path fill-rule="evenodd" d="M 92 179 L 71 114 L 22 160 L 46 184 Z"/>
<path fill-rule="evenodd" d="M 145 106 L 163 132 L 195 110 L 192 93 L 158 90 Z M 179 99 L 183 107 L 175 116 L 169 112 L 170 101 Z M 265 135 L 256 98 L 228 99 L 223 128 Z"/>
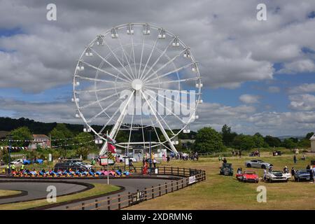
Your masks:
<path fill-rule="evenodd" d="M 172 167 L 168 167 L 172 168 Z M 176 170 L 177 173 L 174 173 Z M 183 169 L 184 170 L 184 169 Z M 189 169 L 188 169 L 189 170 Z M 188 177 L 192 172 L 186 171 L 187 175 L 183 175 L 185 171 L 172 168 L 173 175 L 168 175 L 167 170 L 162 175 L 134 175 L 127 177 L 110 177 L 109 183 L 119 186 L 120 190 L 104 195 L 97 195 L 71 202 L 62 202 L 61 204 L 48 204 L 47 206 L 32 209 L 120 209 L 130 206 L 131 193 L 146 192 L 148 195 L 146 200 L 158 197 L 174 190 L 179 190 L 188 186 Z M 178 172 L 179 171 L 179 172 Z M 195 171 L 195 170 L 194 170 Z M 199 172 L 199 171 L 198 171 Z M 161 171 L 162 173 L 162 171 Z M 179 175 L 178 175 L 179 174 Z M 193 173 L 197 174 L 197 173 Z M 197 183 L 201 181 L 205 174 L 203 172 L 195 175 Z M 174 182 L 174 183 L 173 183 Z M 176 182 L 176 183 L 175 183 Z M 48 195 L 48 186 L 55 186 L 57 197 L 62 195 L 71 195 L 90 190 L 93 188 L 92 183 L 107 184 L 106 176 L 90 176 L 90 177 L 18 177 L 18 176 L 0 176 L 0 189 L 3 190 L 20 190 L 22 193 L 13 195 L 12 197 L 0 197 L 0 204 L 27 202 L 32 200 L 45 199 Z M 162 187 L 161 187 L 162 186 Z M 153 190 L 152 188 L 156 188 Z M 159 189 L 159 190 L 158 190 Z M 119 197 L 119 198 L 118 198 Z M 95 200 L 99 204 L 95 205 Z M 109 200 L 111 206 L 108 206 Z M 84 208 L 82 205 L 85 204 Z M 118 205 L 119 204 L 119 205 Z"/>

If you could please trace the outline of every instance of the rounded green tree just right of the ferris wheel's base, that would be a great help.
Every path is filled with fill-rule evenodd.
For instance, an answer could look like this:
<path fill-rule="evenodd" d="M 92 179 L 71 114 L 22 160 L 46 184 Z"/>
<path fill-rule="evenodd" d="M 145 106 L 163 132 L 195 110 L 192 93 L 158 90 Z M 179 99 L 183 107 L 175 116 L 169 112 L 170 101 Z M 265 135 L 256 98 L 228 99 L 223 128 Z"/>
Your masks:
<path fill-rule="evenodd" d="M 223 150 L 223 141 L 220 133 L 211 127 L 198 130 L 194 149 L 198 153 L 219 152 Z"/>

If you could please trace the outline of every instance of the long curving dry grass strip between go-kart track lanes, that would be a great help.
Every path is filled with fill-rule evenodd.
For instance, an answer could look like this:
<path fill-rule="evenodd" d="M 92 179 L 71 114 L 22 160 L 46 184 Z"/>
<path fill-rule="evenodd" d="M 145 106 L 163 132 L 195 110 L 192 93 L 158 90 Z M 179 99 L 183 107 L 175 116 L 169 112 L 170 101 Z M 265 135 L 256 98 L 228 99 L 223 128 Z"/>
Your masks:
<path fill-rule="evenodd" d="M 83 199 L 85 197 L 91 197 L 94 195 L 102 195 L 105 193 L 109 193 L 115 190 L 119 190 L 118 186 L 106 185 L 101 183 L 92 183 L 94 188 L 90 190 L 83 191 L 81 193 L 73 194 L 73 195 L 64 195 L 57 197 L 57 202 L 66 202 L 70 200 Z M 20 209 L 31 209 L 34 207 L 40 207 L 43 205 L 53 204 L 47 202 L 47 200 L 34 200 L 29 202 L 18 202 L 12 204 L 1 204 L 0 210 L 20 210 Z"/>

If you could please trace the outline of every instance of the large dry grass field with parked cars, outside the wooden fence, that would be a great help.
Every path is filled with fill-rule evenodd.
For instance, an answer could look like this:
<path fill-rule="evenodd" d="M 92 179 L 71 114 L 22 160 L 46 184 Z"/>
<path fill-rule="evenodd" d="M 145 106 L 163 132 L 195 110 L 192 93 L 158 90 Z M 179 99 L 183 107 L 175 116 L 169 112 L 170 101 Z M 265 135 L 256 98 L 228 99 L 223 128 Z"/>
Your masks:
<path fill-rule="evenodd" d="M 297 156 L 300 158 L 300 156 Z M 306 155 L 307 160 L 297 160 L 293 164 L 293 155 L 272 157 L 269 153 L 262 153 L 260 159 L 274 165 L 274 170 L 282 170 L 284 166 L 295 169 L 305 169 L 310 160 L 315 160 L 315 155 Z M 235 172 L 242 167 L 244 162 L 253 158 L 228 158 L 232 162 Z M 221 162 L 218 158 L 200 158 L 199 161 L 172 160 L 168 164 L 163 162 L 160 166 L 191 167 L 204 169 L 207 180 L 188 188 L 148 200 L 127 209 L 315 209 L 315 184 L 304 182 L 297 183 L 241 183 L 234 176 L 219 175 Z M 254 169 L 262 176 L 263 169 Z M 267 202 L 258 203 L 256 197 L 258 186 L 267 188 Z"/>

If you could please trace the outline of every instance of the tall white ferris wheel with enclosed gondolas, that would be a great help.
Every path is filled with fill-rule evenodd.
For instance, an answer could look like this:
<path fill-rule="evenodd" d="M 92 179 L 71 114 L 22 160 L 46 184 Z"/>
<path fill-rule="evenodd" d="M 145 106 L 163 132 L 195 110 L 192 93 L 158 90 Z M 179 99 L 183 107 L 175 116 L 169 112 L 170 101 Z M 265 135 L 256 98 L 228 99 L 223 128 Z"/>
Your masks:
<path fill-rule="evenodd" d="M 128 23 L 85 47 L 73 76 L 72 101 L 85 131 L 104 143 L 99 155 L 106 153 L 108 139 L 122 133 L 128 141 L 117 141 L 119 148 L 162 146 L 177 153 L 176 137 L 189 133 L 198 118 L 201 89 L 198 64 L 179 36 L 156 25 Z M 148 139 L 149 129 L 155 141 Z"/>

